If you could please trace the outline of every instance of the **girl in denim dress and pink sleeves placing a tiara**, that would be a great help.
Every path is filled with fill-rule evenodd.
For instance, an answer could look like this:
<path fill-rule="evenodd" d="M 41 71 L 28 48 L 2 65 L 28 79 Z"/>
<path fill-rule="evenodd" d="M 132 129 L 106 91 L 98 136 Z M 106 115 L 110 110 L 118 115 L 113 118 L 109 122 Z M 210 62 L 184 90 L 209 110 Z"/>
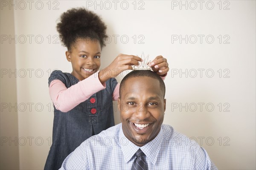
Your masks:
<path fill-rule="evenodd" d="M 98 71 L 106 26 L 100 17 L 84 8 L 72 8 L 57 24 L 72 73 L 53 71 L 49 94 L 54 103 L 52 146 L 44 169 L 59 169 L 64 159 L 84 140 L 114 125 L 113 100 L 119 97 L 116 77 L 142 61 L 134 55 L 119 54 L 105 69 Z M 157 56 L 151 67 L 165 77 L 168 63 Z"/>

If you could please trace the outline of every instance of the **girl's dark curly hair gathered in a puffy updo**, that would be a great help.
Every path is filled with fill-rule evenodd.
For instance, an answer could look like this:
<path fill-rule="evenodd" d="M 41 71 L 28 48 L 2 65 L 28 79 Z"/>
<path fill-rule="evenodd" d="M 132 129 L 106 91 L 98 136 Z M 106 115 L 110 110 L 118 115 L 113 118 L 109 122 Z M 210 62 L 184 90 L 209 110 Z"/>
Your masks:
<path fill-rule="evenodd" d="M 85 8 L 71 8 L 61 14 L 60 22 L 57 23 L 57 31 L 61 42 L 67 47 L 75 45 L 78 39 L 99 40 L 101 47 L 105 46 L 104 39 L 107 26 L 101 18 L 92 11 Z"/>

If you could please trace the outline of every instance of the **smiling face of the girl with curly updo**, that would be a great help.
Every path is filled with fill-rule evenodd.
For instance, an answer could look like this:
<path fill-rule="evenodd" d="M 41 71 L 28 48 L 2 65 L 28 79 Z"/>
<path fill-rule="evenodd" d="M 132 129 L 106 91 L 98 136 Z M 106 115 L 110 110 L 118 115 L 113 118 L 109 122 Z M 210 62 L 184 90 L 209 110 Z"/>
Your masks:
<path fill-rule="evenodd" d="M 86 79 L 99 70 L 101 46 L 98 40 L 79 39 L 66 51 L 66 57 L 72 63 L 72 75 L 79 80 Z"/>

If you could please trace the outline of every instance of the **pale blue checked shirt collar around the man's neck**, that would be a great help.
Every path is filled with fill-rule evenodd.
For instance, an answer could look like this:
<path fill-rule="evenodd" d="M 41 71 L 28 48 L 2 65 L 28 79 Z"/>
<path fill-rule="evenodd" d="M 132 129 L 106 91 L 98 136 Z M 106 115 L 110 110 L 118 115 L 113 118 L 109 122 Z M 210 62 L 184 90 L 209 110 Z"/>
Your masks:
<path fill-rule="evenodd" d="M 157 161 L 157 156 L 161 147 L 161 143 L 163 140 L 163 130 L 160 129 L 160 132 L 157 134 L 157 136 L 145 144 L 142 147 L 137 146 L 136 144 L 132 143 L 129 139 L 127 139 L 122 131 L 122 126 L 119 130 L 119 145 L 121 147 L 124 160 L 127 163 L 132 159 L 134 156 L 134 153 L 137 152 L 137 150 L 140 148 L 143 153 L 148 157 L 148 159 L 151 161 L 152 164 L 155 164 Z"/>

